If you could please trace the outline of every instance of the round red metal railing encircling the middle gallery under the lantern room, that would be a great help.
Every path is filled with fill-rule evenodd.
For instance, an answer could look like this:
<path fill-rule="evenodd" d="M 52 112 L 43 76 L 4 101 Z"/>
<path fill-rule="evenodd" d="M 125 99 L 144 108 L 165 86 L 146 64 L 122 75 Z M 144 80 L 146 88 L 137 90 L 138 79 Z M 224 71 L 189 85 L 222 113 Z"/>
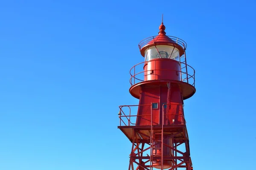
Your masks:
<path fill-rule="evenodd" d="M 172 69 L 156 69 L 155 67 L 154 67 L 154 69 L 146 70 L 146 71 L 143 69 L 143 66 L 145 64 L 147 64 L 148 62 L 155 62 L 154 65 L 156 65 L 156 61 L 157 60 L 150 60 L 150 61 L 140 62 L 140 63 L 134 65 L 130 69 L 130 75 L 131 75 L 130 84 L 131 84 L 131 86 L 135 85 L 139 82 L 143 82 L 144 77 L 147 75 L 153 75 L 154 79 L 151 79 L 151 80 L 155 80 L 156 79 L 156 71 L 170 71 L 170 73 L 175 71 L 175 72 L 180 72 L 180 81 L 189 83 L 190 85 L 195 87 L 195 70 L 190 65 L 187 65 L 186 62 L 179 62 L 180 63 L 179 71 L 172 70 Z M 141 71 L 142 69 L 143 69 L 143 71 Z M 137 72 L 137 70 L 139 70 L 139 71 Z M 145 72 L 150 72 L 150 71 L 152 71 L 153 74 L 145 74 Z"/>

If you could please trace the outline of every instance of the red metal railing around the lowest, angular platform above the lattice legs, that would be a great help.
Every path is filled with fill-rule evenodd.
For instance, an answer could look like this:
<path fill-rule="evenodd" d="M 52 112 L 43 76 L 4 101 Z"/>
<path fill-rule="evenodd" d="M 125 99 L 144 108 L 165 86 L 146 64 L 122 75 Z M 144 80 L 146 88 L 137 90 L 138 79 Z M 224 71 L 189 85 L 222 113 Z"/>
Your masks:
<path fill-rule="evenodd" d="M 169 113 L 169 110 L 171 109 L 172 105 L 176 105 L 176 106 L 181 106 L 180 108 L 182 110 L 179 111 L 178 114 L 172 114 Z M 139 106 L 150 106 L 150 112 L 148 111 L 147 114 L 141 114 L 138 115 L 138 108 Z M 165 108 L 166 106 L 166 108 Z M 169 107 L 169 108 L 168 108 Z M 131 111 L 132 108 L 135 108 L 135 111 Z M 127 109 L 126 111 L 124 111 L 124 109 Z M 160 108 L 158 108 L 160 109 Z M 183 114 L 183 104 L 163 104 L 162 105 L 162 123 L 160 123 L 159 125 L 167 125 L 168 123 L 166 123 L 166 117 L 167 116 L 171 116 L 171 115 L 177 115 L 177 116 L 181 116 L 181 119 L 185 122 L 185 118 L 184 118 L 184 114 Z M 152 105 L 122 105 L 119 106 L 119 126 L 135 126 L 136 125 L 136 121 L 137 118 L 140 116 L 150 116 L 151 118 L 148 119 L 148 122 L 151 122 L 150 124 L 153 124 L 153 120 L 152 120 Z M 159 114 L 160 116 L 160 114 Z M 171 124 L 174 124 L 175 122 L 171 122 Z"/>

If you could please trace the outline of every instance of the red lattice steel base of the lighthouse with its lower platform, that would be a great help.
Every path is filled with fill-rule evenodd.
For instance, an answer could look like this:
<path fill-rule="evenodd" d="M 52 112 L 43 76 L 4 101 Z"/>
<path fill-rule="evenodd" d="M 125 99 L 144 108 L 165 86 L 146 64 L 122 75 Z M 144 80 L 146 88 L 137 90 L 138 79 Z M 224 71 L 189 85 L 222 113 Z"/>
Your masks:
<path fill-rule="evenodd" d="M 134 125 L 123 110 L 139 106 L 119 106 L 118 128 L 132 143 L 128 170 L 193 170 L 186 125 Z"/>

